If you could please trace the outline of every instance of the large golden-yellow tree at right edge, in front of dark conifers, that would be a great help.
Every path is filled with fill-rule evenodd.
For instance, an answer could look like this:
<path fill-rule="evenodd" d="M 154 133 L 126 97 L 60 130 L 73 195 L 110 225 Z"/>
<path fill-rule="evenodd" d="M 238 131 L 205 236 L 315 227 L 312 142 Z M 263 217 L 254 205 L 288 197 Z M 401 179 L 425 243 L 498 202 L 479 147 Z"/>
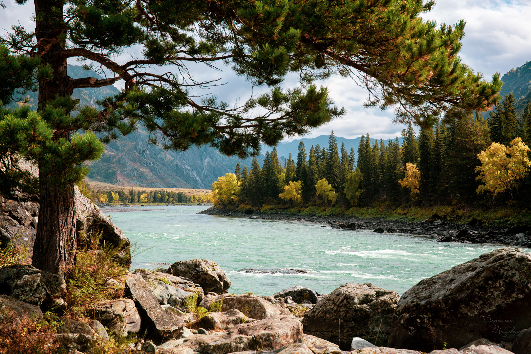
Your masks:
<path fill-rule="evenodd" d="M 527 152 L 529 147 L 516 137 L 510 142 L 510 147 L 492 143 L 489 148 L 477 154 L 481 166 L 476 167 L 479 172 L 477 180 L 484 184 L 477 187 L 477 194 L 489 193 L 492 197 L 492 210 L 496 195 L 509 191 L 513 198 L 513 189 L 517 189 L 525 172 L 531 167 Z"/>

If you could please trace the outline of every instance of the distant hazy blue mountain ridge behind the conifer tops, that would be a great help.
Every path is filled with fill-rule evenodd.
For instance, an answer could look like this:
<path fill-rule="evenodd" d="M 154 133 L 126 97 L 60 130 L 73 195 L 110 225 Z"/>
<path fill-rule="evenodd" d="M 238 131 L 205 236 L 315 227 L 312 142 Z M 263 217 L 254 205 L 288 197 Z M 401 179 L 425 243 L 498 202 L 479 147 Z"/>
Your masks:
<path fill-rule="evenodd" d="M 306 149 L 306 156 L 310 153 L 310 148 L 312 145 L 315 147 L 317 144 L 321 146 L 321 148 L 327 148 L 328 150 L 328 138 L 329 135 L 319 135 L 317 137 L 303 137 L 302 139 L 295 139 L 290 142 L 281 142 L 277 148 L 277 154 L 279 157 L 281 157 L 281 162 L 284 164 L 284 158 L 288 158 L 289 153 L 292 153 L 292 158 L 296 161 L 297 160 L 297 154 L 298 154 L 298 144 L 302 141 L 304 143 L 304 148 Z M 362 139 L 361 136 L 356 137 L 355 139 L 347 139 L 346 137 L 336 136 L 337 140 L 337 147 L 339 149 L 339 153 L 341 153 L 341 143 L 345 143 L 345 148 L 347 149 L 347 152 L 350 153 L 350 148 L 354 148 L 354 155 L 357 159 L 358 154 L 358 145 L 359 141 Z M 374 143 L 378 139 L 373 139 L 371 137 L 371 143 Z M 398 140 L 400 141 L 400 144 L 402 143 L 402 138 L 399 137 Z M 387 144 L 388 140 L 384 140 L 384 142 Z M 271 151 L 273 150 L 272 146 L 266 146 L 262 145 L 261 153 L 264 154 L 265 151 Z"/>

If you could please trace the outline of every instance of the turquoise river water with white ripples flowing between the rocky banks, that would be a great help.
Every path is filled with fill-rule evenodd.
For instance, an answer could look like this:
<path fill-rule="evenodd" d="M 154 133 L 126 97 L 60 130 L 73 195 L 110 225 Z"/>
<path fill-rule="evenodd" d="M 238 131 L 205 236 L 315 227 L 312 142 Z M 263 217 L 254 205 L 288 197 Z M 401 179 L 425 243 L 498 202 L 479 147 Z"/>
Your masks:
<path fill-rule="evenodd" d="M 203 258 L 225 270 L 234 293 L 272 295 L 295 285 L 329 293 L 356 282 L 402 295 L 424 278 L 498 248 L 332 229 L 304 221 L 198 214 L 208 206 L 161 208 L 110 212 L 113 222 L 136 243 L 132 269 Z"/>

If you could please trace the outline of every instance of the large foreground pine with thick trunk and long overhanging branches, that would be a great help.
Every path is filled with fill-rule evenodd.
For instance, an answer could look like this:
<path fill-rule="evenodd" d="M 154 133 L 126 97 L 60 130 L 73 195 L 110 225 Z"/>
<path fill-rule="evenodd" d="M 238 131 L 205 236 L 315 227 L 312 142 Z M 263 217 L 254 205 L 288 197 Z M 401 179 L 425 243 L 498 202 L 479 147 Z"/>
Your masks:
<path fill-rule="evenodd" d="M 210 144 L 222 153 L 245 157 L 258 153 L 261 141 L 275 145 L 282 136 L 304 134 L 344 113 L 331 106 L 324 88 L 309 85 L 307 90 L 282 90 L 279 85 L 289 72 L 304 71 L 305 79 L 312 80 L 328 75 L 328 70 L 344 71 L 345 65 L 356 68 L 363 73 L 361 77 L 366 77 L 367 85 L 376 83 L 375 105 L 385 108 L 400 102 L 405 109 L 398 110 L 397 118 L 413 119 L 418 124 L 431 124 L 423 117 L 441 111 L 457 114 L 489 107 L 501 88 L 499 76 L 487 83 L 460 63 L 457 54 L 464 21 L 451 29 L 438 29 L 434 21 L 420 18 L 430 10 L 431 3 L 34 3 L 35 31 L 14 27 L 15 33 L 5 36 L 3 43 L 17 54 L 39 57 L 42 67 L 53 72 L 53 77 L 37 76 L 38 110 L 56 132 L 49 140 L 52 145 L 64 145 L 63 152 L 80 146 L 70 144 L 71 140 L 82 139 L 74 132 L 85 131 L 83 139 L 90 140 L 89 132 L 96 131 L 108 142 L 141 124 L 152 133 L 150 143 L 160 143 L 166 149 L 186 150 L 194 144 Z M 338 21 L 337 14 L 343 20 Z M 406 22 L 408 25 L 403 25 Z M 363 45 L 359 33 L 363 33 Z M 341 45 L 335 45 L 339 42 Z M 117 62 L 117 54 L 132 46 L 140 47 L 138 53 L 142 55 L 126 63 Z M 382 53 L 393 59 L 374 60 L 382 58 Z M 87 67 L 104 67 L 101 73 L 110 75 L 99 80 L 73 80 L 66 66 L 74 59 Z M 215 67 L 216 63 L 229 62 L 238 75 L 253 84 L 273 87 L 272 92 L 256 100 L 265 114 L 252 116 L 252 104 L 230 108 L 214 97 L 198 101 L 189 85 L 202 87 L 205 83 L 194 80 L 197 76 L 189 68 L 200 65 L 188 65 L 190 62 Z M 160 75 L 166 67 L 186 70 Z M 320 67 L 327 68 L 327 73 L 314 70 Z M 102 110 L 81 107 L 79 114 L 70 115 L 75 109 L 71 99 L 74 89 L 104 87 L 119 80 L 123 80 L 123 90 L 102 102 Z M 19 87 L 14 89 L 32 85 L 25 81 L 16 84 Z M 5 84 L 8 88 L 13 85 Z M 385 89 L 380 90 L 378 85 Z M 378 94 L 380 91 L 385 96 Z M 451 104 L 447 103 L 449 97 Z M 92 142 L 90 148 L 94 147 Z M 44 170 L 46 158 L 39 161 L 41 217 L 33 265 L 40 270 L 57 272 L 60 266 L 74 262 L 75 252 L 68 249 L 68 245 L 76 244 L 73 184 L 86 175 L 87 169 L 76 168 L 87 158 L 80 164 L 68 161 L 72 157 L 97 158 L 88 154 L 89 150 L 84 150 L 83 156 L 81 151 L 63 154 L 64 163 L 54 165 L 54 174 Z M 53 179 L 46 177 L 52 175 Z M 57 183 L 57 179 L 67 183 Z"/>

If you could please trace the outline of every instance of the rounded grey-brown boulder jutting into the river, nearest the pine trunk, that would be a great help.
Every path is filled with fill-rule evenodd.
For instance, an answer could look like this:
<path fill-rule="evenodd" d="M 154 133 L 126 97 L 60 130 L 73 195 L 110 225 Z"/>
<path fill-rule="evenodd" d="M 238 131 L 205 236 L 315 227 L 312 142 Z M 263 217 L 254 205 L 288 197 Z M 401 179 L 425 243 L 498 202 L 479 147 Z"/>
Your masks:
<path fill-rule="evenodd" d="M 230 279 L 221 267 L 212 261 L 196 258 L 190 261 L 175 262 L 168 273 L 175 277 L 189 278 L 199 284 L 204 292 L 222 293 L 230 288 Z"/>

